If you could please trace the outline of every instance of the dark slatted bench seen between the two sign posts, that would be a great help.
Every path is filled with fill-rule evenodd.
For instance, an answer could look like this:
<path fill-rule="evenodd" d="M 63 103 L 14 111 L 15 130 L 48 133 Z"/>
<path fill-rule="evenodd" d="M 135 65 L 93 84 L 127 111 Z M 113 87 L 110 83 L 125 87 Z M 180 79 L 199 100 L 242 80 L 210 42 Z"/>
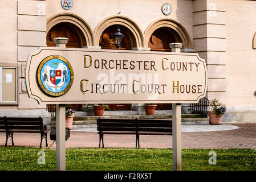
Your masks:
<path fill-rule="evenodd" d="M 140 135 L 172 135 L 172 121 L 165 119 L 111 119 L 97 118 L 99 148 L 104 134 L 136 135 L 136 148 L 140 148 Z"/>

